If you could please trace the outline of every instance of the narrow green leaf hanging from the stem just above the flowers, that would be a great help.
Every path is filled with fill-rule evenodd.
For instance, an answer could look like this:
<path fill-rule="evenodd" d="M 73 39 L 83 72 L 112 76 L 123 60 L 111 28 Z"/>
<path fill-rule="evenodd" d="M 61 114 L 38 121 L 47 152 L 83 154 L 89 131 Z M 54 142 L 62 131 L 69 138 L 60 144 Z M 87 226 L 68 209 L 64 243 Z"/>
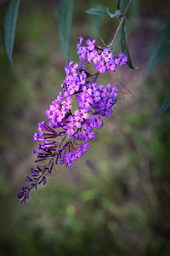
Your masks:
<path fill-rule="evenodd" d="M 122 24 L 122 30 L 121 30 L 121 48 L 122 48 L 122 53 L 124 53 L 128 57 L 127 66 L 134 69 L 132 61 L 131 61 L 131 57 L 130 57 L 130 54 L 129 54 L 129 50 L 128 50 L 127 32 L 126 32 L 124 22 Z"/>

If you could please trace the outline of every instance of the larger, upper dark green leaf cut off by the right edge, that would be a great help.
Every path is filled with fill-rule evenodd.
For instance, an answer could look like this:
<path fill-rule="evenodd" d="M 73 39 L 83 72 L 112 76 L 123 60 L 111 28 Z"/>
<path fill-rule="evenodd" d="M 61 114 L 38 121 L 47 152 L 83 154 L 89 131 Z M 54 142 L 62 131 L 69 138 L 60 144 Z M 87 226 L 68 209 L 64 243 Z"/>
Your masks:
<path fill-rule="evenodd" d="M 167 22 L 167 26 L 161 32 L 161 35 L 156 40 L 156 44 L 151 52 L 146 76 L 150 73 L 150 70 L 155 67 L 159 62 L 163 61 L 170 55 L 170 21 Z"/>

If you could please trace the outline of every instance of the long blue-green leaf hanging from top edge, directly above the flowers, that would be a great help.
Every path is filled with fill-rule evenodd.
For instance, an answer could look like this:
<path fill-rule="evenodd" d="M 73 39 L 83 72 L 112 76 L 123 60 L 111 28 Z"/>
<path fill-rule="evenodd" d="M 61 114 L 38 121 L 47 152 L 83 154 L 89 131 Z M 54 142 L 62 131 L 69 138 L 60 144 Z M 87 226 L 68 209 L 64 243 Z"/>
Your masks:
<path fill-rule="evenodd" d="M 69 47 L 71 40 L 71 21 L 72 21 L 73 0 L 60 0 L 59 2 L 59 40 L 65 56 L 65 62 L 68 62 Z"/>

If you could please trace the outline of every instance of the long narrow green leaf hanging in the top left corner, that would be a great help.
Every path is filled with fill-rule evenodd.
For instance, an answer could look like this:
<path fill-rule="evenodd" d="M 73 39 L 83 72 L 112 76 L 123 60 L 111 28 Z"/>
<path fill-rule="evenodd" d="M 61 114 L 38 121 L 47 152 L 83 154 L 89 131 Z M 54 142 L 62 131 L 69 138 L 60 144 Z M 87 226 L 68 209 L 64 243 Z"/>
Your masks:
<path fill-rule="evenodd" d="M 11 65 L 13 65 L 12 55 L 13 55 L 13 47 L 14 47 L 14 34 L 16 29 L 19 6 L 20 6 L 20 0 L 11 0 L 8 3 L 8 9 L 5 14 L 5 23 L 4 23 L 5 49 Z"/>

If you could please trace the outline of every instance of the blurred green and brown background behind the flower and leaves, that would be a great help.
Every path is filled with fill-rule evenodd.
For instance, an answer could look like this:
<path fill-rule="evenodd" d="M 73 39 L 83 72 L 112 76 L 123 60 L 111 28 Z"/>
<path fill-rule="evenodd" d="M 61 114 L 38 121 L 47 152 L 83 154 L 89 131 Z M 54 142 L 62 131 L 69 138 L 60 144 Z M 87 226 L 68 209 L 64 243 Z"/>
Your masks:
<path fill-rule="evenodd" d="M 167 1 L 133 1 L 127 34 L 133 66 L 99 77 L 119 86 L 114 119 L 105 120 L 88 153 L 48 177 L 21 206 L 16 193 L 32 166 L 32 136 L 65 79 L 59 1 L 22 1 L 14 66 L 3 44 L 8 3 L 0 5 L 0 255 L 170 255 L 170 116 L 155 119 L 169 87 L 169 59 L 144 79 L 150 51 L 169 18 Z M 80 35 L 108 44 L 117 20 L 87 15 L 116 1 L 77 1 L 70 60 Z M 114 52 L 120 52 L 118 41 Z"/>

